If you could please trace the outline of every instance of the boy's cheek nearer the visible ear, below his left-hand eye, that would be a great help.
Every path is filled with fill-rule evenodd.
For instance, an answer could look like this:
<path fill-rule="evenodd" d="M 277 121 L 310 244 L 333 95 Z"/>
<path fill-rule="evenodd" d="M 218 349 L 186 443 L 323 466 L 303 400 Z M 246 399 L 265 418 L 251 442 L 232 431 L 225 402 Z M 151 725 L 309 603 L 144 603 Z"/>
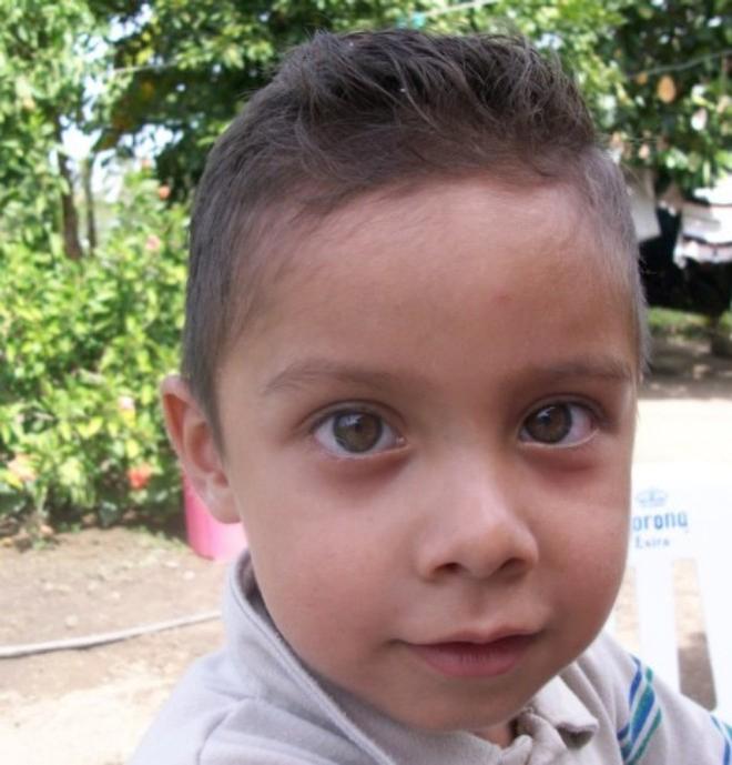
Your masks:
<path fill-rule="evenodd" d="M 260 464 L 237 481 L 237 503 L 272 597 L 277 592 L 289 604 L 297 593 L 313 607 L 332 602 L 335 608 L 384 586 L 404 557 L 405 533 L 394 515 L 404 497 L 387 490 L 383 476 L 363 469 L 344 476 L 342 469 L 334 477 L 313 462 L 306 453 Z"/>

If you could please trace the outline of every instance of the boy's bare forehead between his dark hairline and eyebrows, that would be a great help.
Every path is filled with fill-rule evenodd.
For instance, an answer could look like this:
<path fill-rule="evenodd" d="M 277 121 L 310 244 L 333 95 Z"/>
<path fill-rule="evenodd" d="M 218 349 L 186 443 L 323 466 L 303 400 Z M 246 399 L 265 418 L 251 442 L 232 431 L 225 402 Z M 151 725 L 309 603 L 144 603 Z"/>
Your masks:
<path fill-rule="evenodd" d="M 459 364 L 477 334 L 495 353 L 533 339 L 533 355 L 614 339 L 633 365 L 630 311 L 618 310 L 630 298 L 591 221 L 558 184 L 471 179 L 362 197 L 273 238 L 257 311 L 231 353 L 388 368 L 419 349 L 423 362 L 445 351 L 441 363 Z"/>

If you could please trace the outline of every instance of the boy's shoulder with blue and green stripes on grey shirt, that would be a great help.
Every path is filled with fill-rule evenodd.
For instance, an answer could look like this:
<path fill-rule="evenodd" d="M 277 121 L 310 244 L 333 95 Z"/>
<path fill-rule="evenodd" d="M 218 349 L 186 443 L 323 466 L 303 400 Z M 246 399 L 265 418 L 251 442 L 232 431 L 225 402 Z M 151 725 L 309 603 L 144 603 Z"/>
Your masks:
<path fill-rule="evenodd" d="M 623 763 L 731 765 L 732 731 L 601 635 L 562 680 L 614 728 Z"/>

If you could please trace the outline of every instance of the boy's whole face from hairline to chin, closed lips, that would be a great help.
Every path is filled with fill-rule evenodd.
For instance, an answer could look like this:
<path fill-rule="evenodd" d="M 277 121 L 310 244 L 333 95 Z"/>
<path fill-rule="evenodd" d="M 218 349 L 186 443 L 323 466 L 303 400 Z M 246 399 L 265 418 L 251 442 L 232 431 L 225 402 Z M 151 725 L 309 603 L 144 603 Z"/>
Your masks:
<path fill-rule="evenodd" d="M 408 724 L 505 741 L 616 597 L 636 349 L 576 200 L 356 200 L 293 238 L 221 371 L 214 510 L 305 663 Z"/>

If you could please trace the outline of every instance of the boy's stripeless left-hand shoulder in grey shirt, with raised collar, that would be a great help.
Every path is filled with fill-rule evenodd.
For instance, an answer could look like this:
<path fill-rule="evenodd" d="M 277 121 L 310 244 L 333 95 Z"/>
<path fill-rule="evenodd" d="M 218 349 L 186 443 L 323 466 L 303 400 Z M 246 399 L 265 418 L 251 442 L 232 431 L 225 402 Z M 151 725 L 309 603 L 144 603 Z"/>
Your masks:
<path fill-rule="evenodd" d="M 246 555 L 223 613 L 225 647 L 193 664 L 129 765 L 363 763 L 348 721 L 271 623 Z"/>

